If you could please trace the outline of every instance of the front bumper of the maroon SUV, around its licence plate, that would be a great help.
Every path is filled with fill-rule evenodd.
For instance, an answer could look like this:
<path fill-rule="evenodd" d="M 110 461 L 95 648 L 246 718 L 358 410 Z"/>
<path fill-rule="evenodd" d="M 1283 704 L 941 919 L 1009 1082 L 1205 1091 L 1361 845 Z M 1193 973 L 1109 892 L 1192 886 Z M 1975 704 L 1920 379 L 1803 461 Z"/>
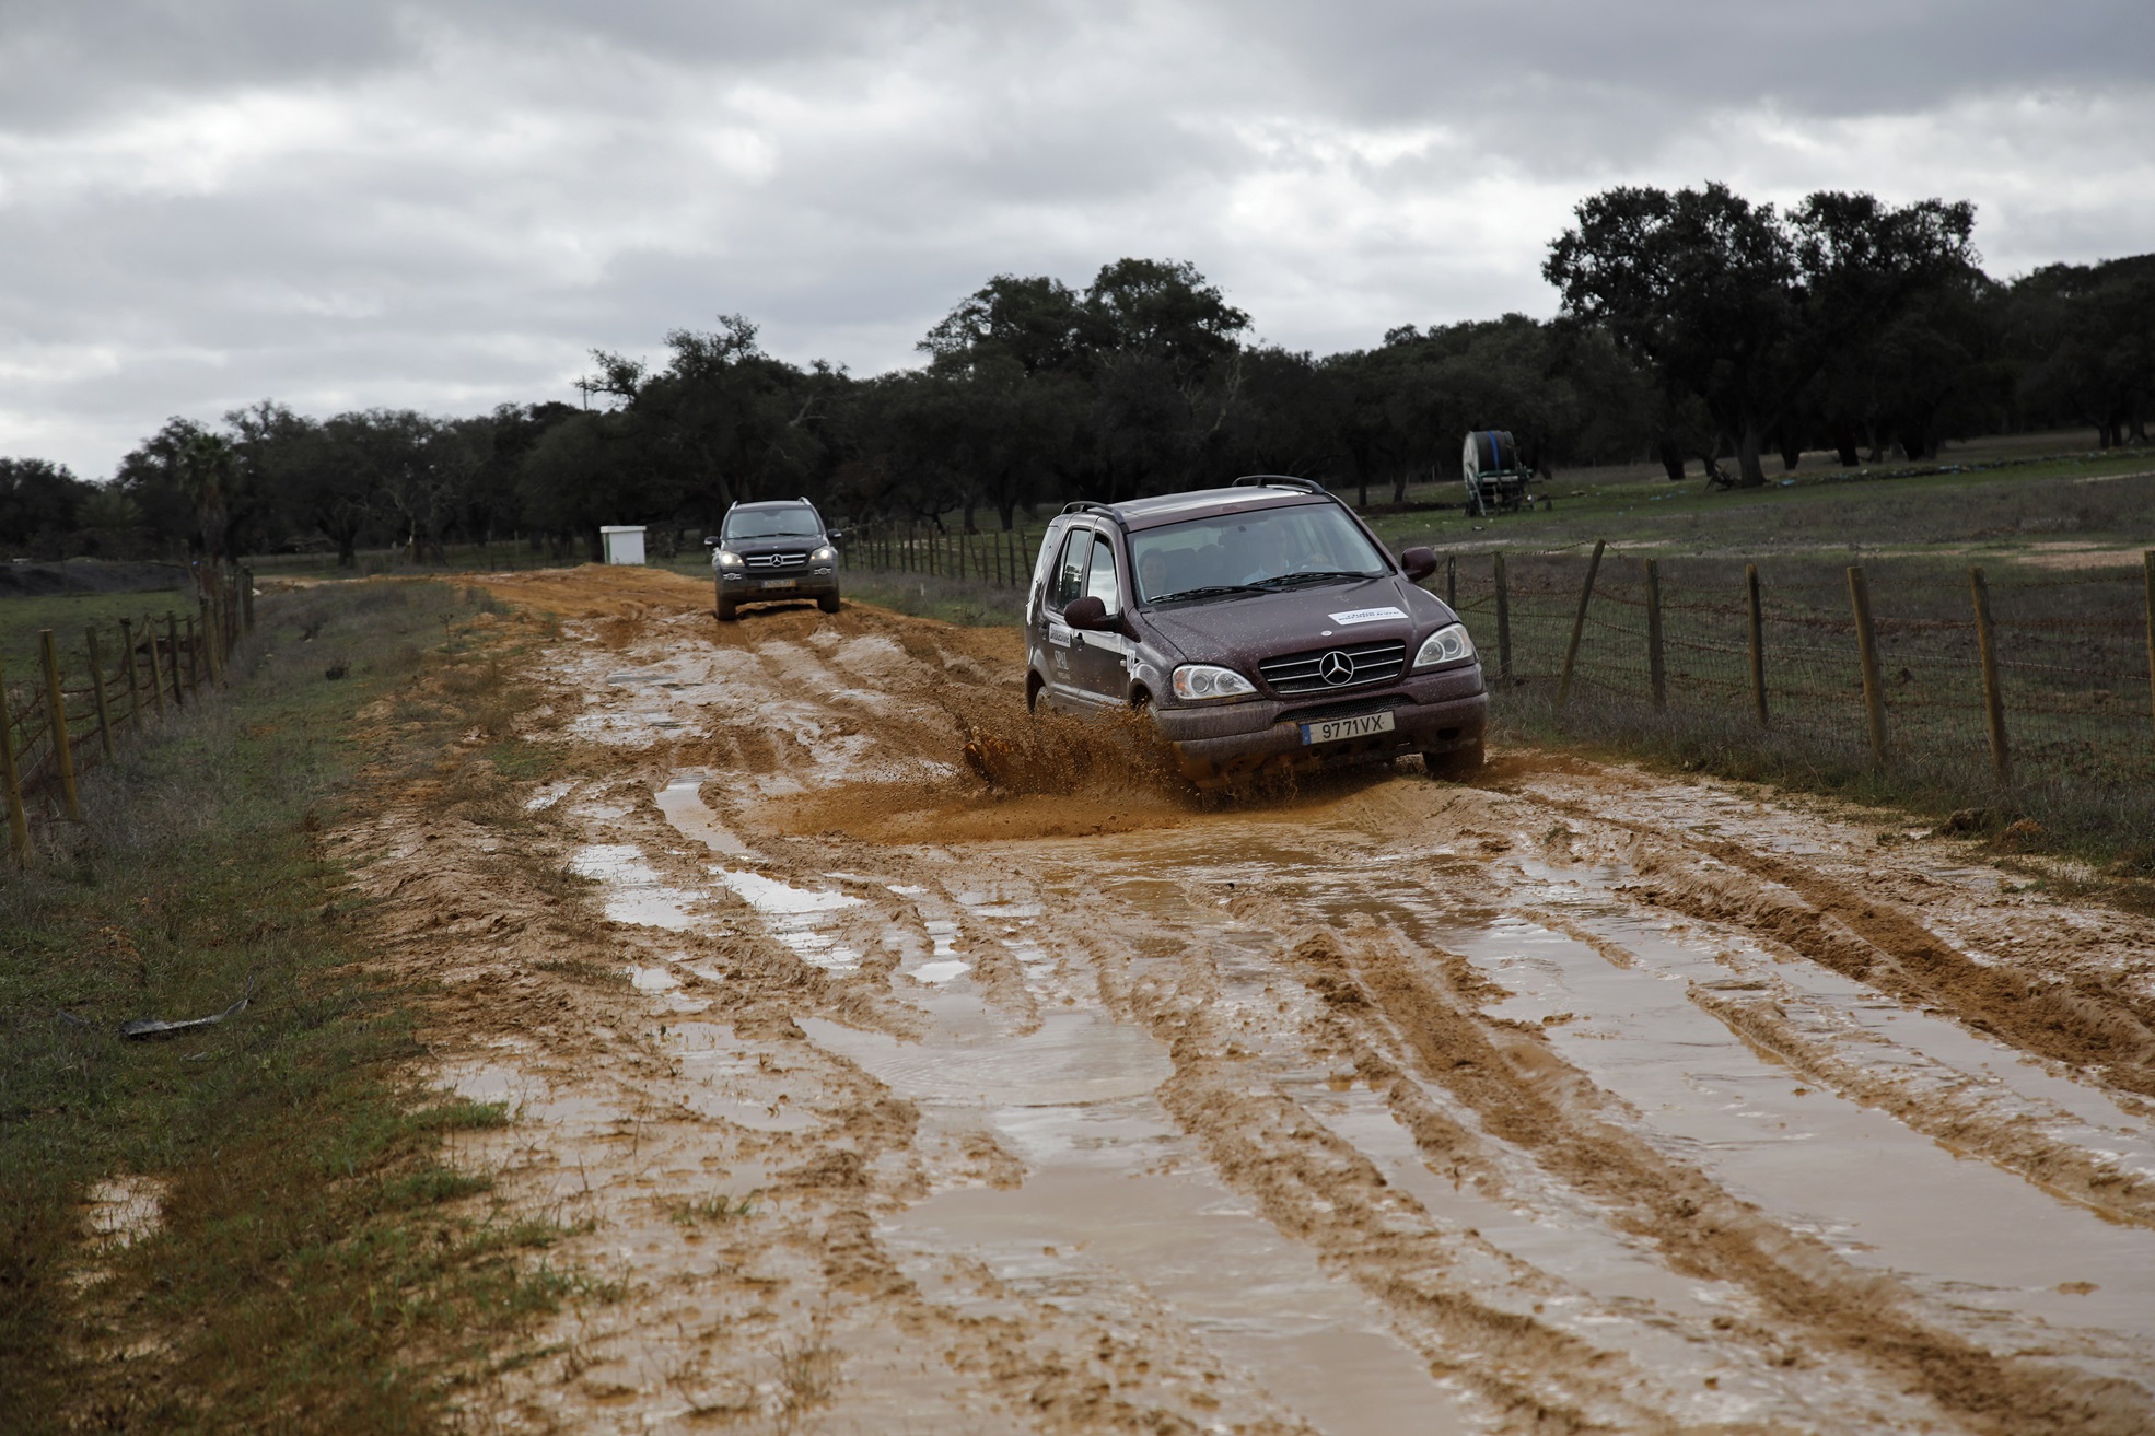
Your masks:
<path fill-rule="evenodd" d="M 1392 712 L 1392 731 L 1336 744 L 1304 744 L 1312 718 Z M 1412 675 L 1371 692 L 1327 701 L 1246 699 L 1205 707 L 1155 707 L 1159 735 L 1174 746 L 1183 776 L 1226 781 L 1265 765 L 1327 765 L 1472 748 L 1489 727 L 1480 664 Z"/>

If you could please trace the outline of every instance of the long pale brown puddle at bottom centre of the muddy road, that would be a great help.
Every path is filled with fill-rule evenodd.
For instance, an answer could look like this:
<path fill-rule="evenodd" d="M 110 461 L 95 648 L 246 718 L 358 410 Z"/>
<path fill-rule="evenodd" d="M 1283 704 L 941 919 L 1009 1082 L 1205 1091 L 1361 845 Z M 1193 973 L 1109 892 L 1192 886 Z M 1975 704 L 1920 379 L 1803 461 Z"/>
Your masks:
<path fill-rule="evenodd" d="M 961 1009 L 963 996 L 937 1005 Z M 929 1121 L 985 1126 L 1026 1162 L 1015 1190 L 944 1190 L 884 1223 L 929 1294 L 963 1257 L 1013 1294 L 1106 1322 L 1164 1304 L 1321 1430 L 1470 1430 L 1375 1302 L 1211 1175 L 1151 1100 L 1170 1067 L 1146 1035 L 1097 1016 L 1049 1016 L 1028 1037 L 983 1031 L 920 1046 L 804 1026 Z"/>

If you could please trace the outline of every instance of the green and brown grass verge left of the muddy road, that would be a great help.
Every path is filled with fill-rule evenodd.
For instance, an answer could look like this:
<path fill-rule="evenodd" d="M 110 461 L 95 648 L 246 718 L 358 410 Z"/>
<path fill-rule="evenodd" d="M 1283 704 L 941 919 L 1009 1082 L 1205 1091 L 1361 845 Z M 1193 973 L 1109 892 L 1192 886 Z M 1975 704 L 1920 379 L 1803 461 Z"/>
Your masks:
<path fill-rule="evenodd" d="M 558 1231 L 489 1214 L 489 1175 L 442 1160 L 446 1132 L 506 1113 L 405 1085 L 425 992 L 364 966 L 319 841 L 362 765 L 435 761 L 446 720 L 384 748 L 353 712 L 470 608 L 429 584 L 265 602 L 237 681 L 99 768 L 84 824 L 39 824 L 32 867 L 0 875 L 6 1430 L 422 1432 L 578 1292 L 534 1266 Z M 116 1035 L 250 981 L 222 1026 Z M 82 1285 L 80 1201 L 110 1175 L 159 1182 L 164 1227 Z"/>

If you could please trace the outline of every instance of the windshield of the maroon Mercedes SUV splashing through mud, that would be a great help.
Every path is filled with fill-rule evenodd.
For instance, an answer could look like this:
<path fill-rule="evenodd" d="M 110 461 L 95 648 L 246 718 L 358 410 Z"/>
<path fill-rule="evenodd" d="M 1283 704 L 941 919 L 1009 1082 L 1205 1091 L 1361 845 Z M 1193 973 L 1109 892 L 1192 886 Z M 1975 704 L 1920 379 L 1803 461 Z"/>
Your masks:
<path fill-rule="evenodd" d="M 1129 537 L 1138 602 L 1226 597 L 1299 584 L 1377 578 L 1384 556 L 1338 505 L 1293 505 L 1256 513 L 1144 528 Z"/>

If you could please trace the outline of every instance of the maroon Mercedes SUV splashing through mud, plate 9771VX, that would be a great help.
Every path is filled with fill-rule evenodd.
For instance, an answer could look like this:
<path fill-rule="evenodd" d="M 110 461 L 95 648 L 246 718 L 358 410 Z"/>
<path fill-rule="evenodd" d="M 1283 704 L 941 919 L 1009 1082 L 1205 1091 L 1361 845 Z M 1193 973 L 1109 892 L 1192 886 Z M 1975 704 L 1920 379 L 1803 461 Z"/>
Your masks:
<path fill-rule="evenodd" d="M 1146 712 L 1198 787 L 1403 752 L 1461 776 L 1489 696 L 1459 615 L 1416 586 L 1435 565 L 1308 479 L 1069 505 L 1032 569 L 1026 705 Z"/>

